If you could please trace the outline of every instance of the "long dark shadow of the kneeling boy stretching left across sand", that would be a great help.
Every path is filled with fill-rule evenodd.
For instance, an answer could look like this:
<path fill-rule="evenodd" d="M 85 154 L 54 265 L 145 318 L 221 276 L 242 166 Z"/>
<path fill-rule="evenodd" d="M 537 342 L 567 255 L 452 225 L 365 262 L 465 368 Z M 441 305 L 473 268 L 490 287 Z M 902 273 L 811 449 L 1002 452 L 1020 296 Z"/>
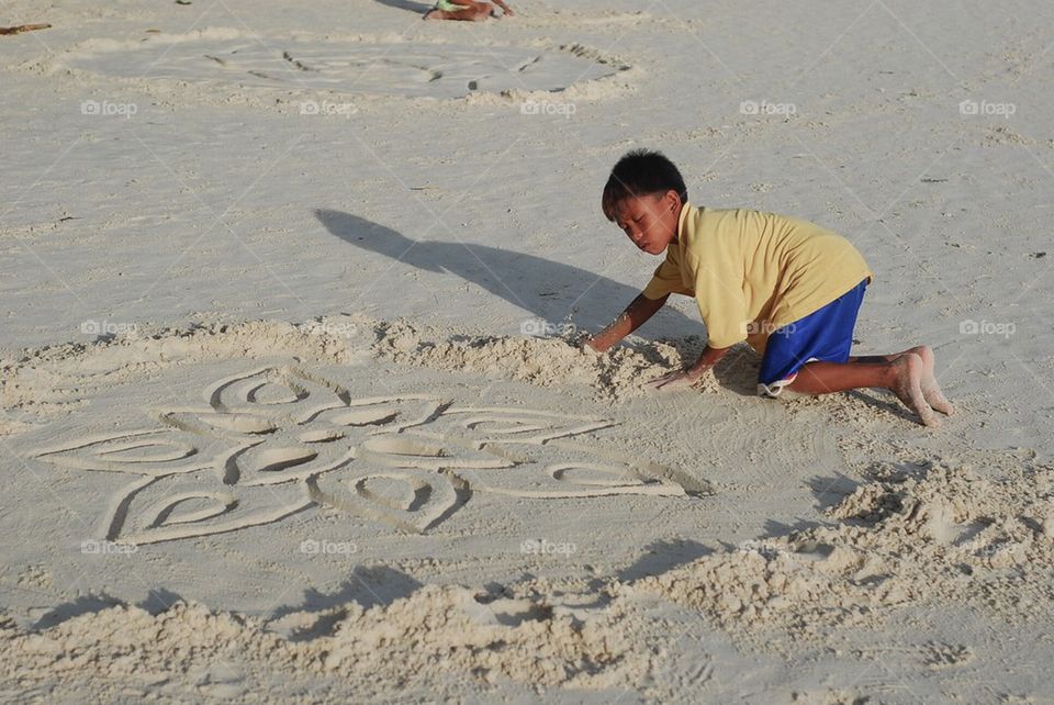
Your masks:
<path fill-rule="evenodd" d="M 487 245 L 414 240 L 366 219 L 340 211 L 316 210 L 330 233 L 365 250 L 433 272 L 450 272 L 550 324 L 569 318 L 580 328 L 598 331 L 640 293 L 638 289 L 573 265 Z M 527 316 L 525 316 L 526 318 Z M 515 328 L 520 327 L 515 322 Z M 668 336 L 700 333 L 703 324 L 665 307 L 646 324 Z"/>

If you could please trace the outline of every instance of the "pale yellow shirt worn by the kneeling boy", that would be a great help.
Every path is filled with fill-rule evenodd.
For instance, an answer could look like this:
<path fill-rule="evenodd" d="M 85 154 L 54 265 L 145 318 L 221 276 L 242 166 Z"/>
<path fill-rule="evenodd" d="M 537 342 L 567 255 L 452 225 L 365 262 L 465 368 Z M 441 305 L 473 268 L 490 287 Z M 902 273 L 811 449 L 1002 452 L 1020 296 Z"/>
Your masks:
<path fill-rule="evenodd" d="M 763 352 L 776 328 L 873 276 L 849 240 L 808 221 L 685 203 L 676 242 L 643 294 L 695 296 L 710 347 L 747 340 Z"/>

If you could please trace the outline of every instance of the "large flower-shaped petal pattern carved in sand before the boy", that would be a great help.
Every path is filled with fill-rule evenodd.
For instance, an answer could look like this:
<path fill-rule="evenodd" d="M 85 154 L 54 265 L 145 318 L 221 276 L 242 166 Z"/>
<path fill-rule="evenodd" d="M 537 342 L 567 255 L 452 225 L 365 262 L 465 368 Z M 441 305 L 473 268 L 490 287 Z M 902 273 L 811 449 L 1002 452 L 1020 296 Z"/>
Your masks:
<path fill-rule="evenodd" d="M 518 407 L 457 407 L 424 394 L 352 398 L 293 367 L 159 409 L 159 428 L 88 436 L 32 457 L 138 475 L 100 536 L 135 545 L 234 531 L 327 505 L 423 533 L 476 492 L 526 499 L 710 494 L 705 480 L 576 439 L 616 425 Z"/>

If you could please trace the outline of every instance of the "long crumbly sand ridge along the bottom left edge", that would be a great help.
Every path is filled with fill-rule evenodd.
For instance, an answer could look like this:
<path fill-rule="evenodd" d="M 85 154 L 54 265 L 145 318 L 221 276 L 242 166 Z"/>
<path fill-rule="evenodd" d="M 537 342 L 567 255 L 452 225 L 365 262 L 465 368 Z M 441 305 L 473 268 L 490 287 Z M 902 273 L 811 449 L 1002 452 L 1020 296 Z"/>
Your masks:
<path fill-rule="evenodd" d="M 287 626 L 326 625 L 326 634 L 313 636 L 306 629 L 285 637 L 262 619 L 186 602 L 157 615 L 117 605 L 38 631 L 4 619 L 0 660 L 3 680 L 20 689 L 76 682 L 96 697 L 158 684 L 197 684 L 202 695 L 231 696 L 243 680 L 265 672 L 337 676 L 363 693 L 379 683 L 397 690 L 431 680 L 437 670 L 538 689 L 630 686 L 647 661 L 632 639 L 639 620 L 626 603 L 538 592 L 543 589 L 535 583 L 493 594 L 433 585 L 369 609 L 348 603 L 282 618 Z M 217 678 L 224 664 L 234 673 Z"/>

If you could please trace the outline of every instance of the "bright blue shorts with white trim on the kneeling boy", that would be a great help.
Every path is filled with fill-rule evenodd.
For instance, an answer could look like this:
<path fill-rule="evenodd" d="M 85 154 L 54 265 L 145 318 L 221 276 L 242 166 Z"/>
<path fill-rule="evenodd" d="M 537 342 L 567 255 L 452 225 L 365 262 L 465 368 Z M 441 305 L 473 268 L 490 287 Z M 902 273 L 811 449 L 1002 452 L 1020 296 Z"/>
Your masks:
<path fill-rule="evenodd" d="M 866 279 L 822 309 L 776 328 L 761 359 L 758 393 L 777 396 L 807 362 L 848 361 L 865 289 Z"/>

